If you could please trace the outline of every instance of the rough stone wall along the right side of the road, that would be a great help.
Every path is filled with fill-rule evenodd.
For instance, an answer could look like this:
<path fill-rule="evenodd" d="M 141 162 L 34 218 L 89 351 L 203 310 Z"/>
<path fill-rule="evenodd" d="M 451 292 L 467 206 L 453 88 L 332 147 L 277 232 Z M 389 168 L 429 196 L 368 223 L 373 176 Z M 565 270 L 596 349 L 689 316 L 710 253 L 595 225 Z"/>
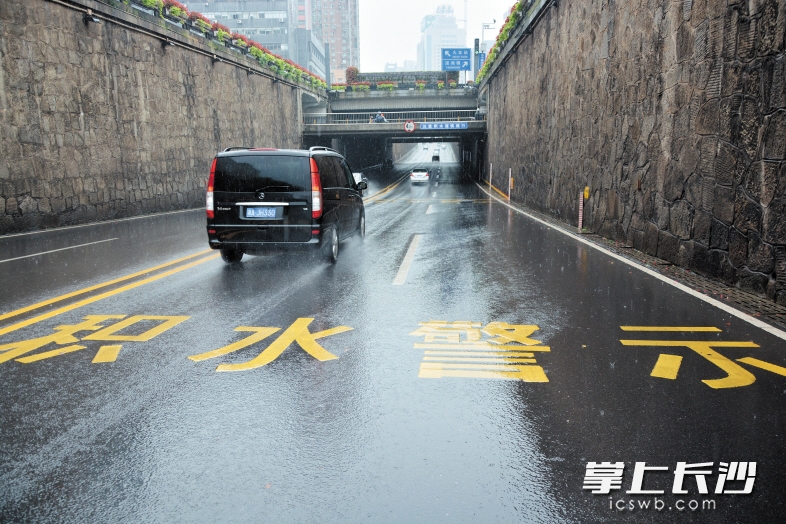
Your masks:
<path fill-rule="evenodd" d="M 786 0 L 552 7 L 490 81 L 513 200 L 786 304 Z M 489 165 L 485 166 L 488 175 Z"/>

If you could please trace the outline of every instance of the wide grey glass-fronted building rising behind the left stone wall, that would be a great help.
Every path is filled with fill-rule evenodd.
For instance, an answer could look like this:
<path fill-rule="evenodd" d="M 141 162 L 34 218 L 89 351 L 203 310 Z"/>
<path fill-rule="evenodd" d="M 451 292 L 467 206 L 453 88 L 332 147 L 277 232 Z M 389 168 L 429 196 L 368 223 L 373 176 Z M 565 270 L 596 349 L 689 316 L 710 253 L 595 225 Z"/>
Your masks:
<path fill-rule="evenodd" d="M 273 53 L 325 77 L 325 49 L 312 31 L 313 0 L 186 0 L 198 11 Z"/>

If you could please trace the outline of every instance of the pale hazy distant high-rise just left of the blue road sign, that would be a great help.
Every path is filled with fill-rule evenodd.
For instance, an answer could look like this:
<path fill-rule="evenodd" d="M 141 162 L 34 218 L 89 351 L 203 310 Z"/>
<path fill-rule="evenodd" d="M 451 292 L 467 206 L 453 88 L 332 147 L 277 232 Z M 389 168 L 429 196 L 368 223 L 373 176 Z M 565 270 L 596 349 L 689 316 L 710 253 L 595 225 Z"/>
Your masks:
<path fill-rule="evenodd" d="M 423 17 L 418 43 L 418 69 L 440 71 L 442 49 L 467 46 L 467 32 L 456 21 L 453 7 L 443 4 L 433 15 Z"/>

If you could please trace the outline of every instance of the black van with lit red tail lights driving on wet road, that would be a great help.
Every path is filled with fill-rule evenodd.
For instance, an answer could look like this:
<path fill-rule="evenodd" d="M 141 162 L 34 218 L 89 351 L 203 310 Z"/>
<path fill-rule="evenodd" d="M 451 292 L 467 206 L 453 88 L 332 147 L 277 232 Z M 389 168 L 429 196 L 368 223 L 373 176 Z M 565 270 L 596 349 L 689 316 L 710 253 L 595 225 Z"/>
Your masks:
<path fill-rule="evenodd" d="M 367 187 L 326 147 L 228 148 L 210 168 L 208 243 L 229 263 L 292 249 L 322 251 L 335 263 L 341 240 L 366 234 Z"/>

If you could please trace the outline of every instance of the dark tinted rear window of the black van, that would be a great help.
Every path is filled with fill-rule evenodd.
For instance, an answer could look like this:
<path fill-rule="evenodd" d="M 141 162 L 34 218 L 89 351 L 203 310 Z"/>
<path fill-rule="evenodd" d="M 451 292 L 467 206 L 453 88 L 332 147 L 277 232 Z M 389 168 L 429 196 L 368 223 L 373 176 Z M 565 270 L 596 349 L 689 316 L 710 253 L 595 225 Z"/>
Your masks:
<path fill-rule="evenodd" d="M 238 193 L 311 191 L 308 157 L 219 157 L 216 162 L 215 190 Z"/>

